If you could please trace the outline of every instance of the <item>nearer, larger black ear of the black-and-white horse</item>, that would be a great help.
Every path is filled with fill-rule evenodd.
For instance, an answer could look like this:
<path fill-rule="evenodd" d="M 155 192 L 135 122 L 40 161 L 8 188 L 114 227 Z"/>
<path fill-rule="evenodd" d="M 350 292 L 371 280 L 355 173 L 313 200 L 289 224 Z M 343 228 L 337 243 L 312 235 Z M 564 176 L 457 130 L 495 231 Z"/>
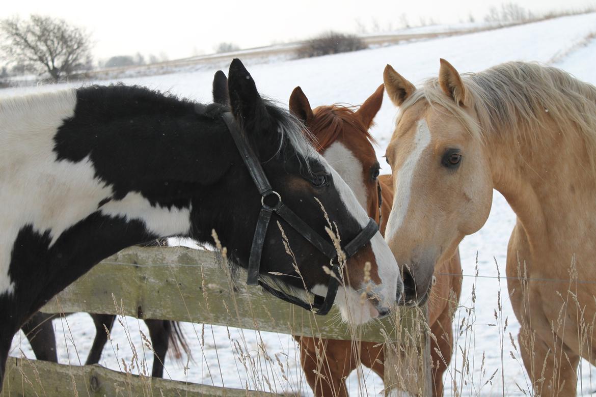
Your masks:
<path fill-rule="evenodd" d="M 229 65 L 228 76 L 229 105 L 236 120 L 245 124 L 266 118 L 267 111 L 253 77 L 238 58 Z"/>

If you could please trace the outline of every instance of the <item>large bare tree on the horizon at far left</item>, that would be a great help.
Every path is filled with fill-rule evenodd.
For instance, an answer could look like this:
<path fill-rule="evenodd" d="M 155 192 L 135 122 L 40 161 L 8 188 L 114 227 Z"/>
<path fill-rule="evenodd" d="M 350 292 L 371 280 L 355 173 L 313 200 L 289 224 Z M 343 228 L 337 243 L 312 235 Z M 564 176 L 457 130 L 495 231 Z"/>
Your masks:
<path fill-rule="evenodd" d="M 0 21 L 2 52 L 11 62 L 47 71 L 55 81 L 91 65 L 91 39 L 85 30 L 57 18 Z"/>

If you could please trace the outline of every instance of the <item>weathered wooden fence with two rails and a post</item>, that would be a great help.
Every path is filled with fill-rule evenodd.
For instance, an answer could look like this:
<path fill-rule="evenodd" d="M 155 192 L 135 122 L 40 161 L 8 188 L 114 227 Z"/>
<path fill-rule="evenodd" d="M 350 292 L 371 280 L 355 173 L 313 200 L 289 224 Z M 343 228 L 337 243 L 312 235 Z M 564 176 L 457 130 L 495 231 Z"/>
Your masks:
<path fill-rule="evenodd" d="M 360 329 L 354 332 L 345 324 L 331 321 L 338 314 L 336 308 L 325 317 L 315 316 L 302 308 L 274 298 L 263 292 L 260 287 L 246 286 L 238 275 L 230 274 L 229 268 L 219 262 L 221 259 L 218 260 L 217 255 L 210 251 L 184 247 L 131 247 L 96 265 L 77 282 L 55 296 L 42 311 L 130 315 L 143 319 L 190 321 L 329 339 L 352 339 L 352 335 L 355 335 L 370 342 L 389 341 L 385 347 L 386 394 L 392 393 L 390 390 L 401 389 L 408 390 L 413 395 L 430 395 L 429 338 L 426 336 L 427 327 L 424 326 L 425 319 L 420 315 L 420 310 L 401 310 L 396 317 L 390 316 L 367 326 L 366 332 Z M 399 324 L 398 327 L 395 326 L 396 323 Z M 404 349 L 403 346 L 409 348 Z M 36 375 L 33 368 L 42 368 L 43 371 Z M 58 376 L 50 375 L 54 373 L 52 371 L 64 377 L 58 382 L 63 389 L 48 393 L 47 389 L 54 390 L 54 386 L 50 385 L 54 385 L 56 382 L 53 381 L 58 379 Z M 77 377 L 79 382 L 76 382 Z M 45 392 L 32 392 L 34 389 L 30 389 L 29 393 L 23 393 L 18 387 L 10 387 L 14 393 L 5 393 L 8 385 L 21 385 L 21 379 L 25 378 L 31 380 L 33 385 L 41 382 L 46 389 Z M 101 379 L 101 385 L 116 385 L 116 389 L 110 390 L 122 390 L 121 395 L 127 396 L 160 396 L 162 394 L 159 390 L 166 390 L 168 387 L 172 390 L 184 390 L 181 395 L 188 396 L 199 395 L 193 393 L 213 396 L 240 395 L 234 394 L 238 390 L 189 385 L 163 379 L 147 380 L 147 377 L 115 373 L 97 365 L 72 367 L 11 358 L 1 396 L 74 395 L 73 382 L 79 385 L 76 387 L 86 385 L 85 390 L 88 390 L 92 379 L 95 379 L 93 382 L 96 384 Z M 133 387 L 142 393 L 126 392 L 127 387 Z M 249 390 L 240 392 L 241 395 L 249 396 L 269 395 Z M 88 392 L 78 395 L 86 396 Z M 117 394 L 106 392 L 89 395 Z"/>

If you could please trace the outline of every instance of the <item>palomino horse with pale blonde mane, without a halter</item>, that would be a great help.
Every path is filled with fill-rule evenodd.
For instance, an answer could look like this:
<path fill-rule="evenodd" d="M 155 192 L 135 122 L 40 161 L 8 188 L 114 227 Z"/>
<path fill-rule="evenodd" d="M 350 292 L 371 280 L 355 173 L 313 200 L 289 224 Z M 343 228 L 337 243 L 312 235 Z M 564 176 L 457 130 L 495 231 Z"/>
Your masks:
<path fill-rule="evenodd" d="M 433 264 L 482 227 L 501 192 L 517 215 L 507 284 L 524 365 L 535 395 L 575 395 L 578 362 L 595 352 L 596 283 L 582 281 L 596 257 L 596 87 L 524 62 L 460 76 L 445 60 L 421 88 L 389 65 L 384 82 L 401 108 L 387 148 L 396 259 L 426 292 Z"/>

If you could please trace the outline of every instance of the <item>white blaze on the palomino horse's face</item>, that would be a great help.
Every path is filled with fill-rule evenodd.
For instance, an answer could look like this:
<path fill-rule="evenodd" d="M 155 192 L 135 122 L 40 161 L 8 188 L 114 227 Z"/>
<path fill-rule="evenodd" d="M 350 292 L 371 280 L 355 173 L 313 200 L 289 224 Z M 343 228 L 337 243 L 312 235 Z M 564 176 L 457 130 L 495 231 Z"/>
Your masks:
<path fill-rule="evenodd" d="M 387 220 L 387 230 L 385 232 L 385 239 L 392 240 L 398 230 L 402 227 L 403 221 L 408 214 L 408 206 L 412 195 L 412 180 L 414 179 L 414 172 L 416 171 L 418 161 L 430 144 L 430 130 L 426 120 L 418 121 L 416 126 L 416 135 L 414 136 L 414 148 L 410 152 L 408 158 L 403 162 L 399 169 L 397 182 L 395 187 L 395 198 L 393 198 L 393 208 Z"/>

